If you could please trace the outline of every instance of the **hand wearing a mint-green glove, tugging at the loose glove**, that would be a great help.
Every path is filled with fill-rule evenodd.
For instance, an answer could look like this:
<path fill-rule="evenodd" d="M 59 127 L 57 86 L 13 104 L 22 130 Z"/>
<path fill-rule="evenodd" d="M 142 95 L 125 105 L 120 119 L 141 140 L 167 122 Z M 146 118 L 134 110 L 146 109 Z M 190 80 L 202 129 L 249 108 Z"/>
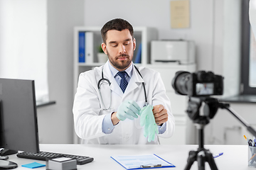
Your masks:
<path fill-rule="evenodd" d="M 138 118 L 139 111 L 140 107 L 135 101 L 124 101 L 117 109 L 117 118 L 122 121 L 126 118 L 134 120 Z"/>

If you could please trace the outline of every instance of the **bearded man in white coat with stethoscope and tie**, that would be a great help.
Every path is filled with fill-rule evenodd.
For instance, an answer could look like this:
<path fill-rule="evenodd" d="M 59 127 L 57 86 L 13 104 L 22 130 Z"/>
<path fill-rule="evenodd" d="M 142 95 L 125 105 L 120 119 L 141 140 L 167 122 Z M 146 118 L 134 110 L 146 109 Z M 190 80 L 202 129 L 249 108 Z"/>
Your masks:
<path fill-rule="evenodd" d="M 117 18 L 105 23 L 101 33 L 102 50 L 109 60 L 80 74 L 73 105 L 75 132 L 82 143 L 159 144 L 158 136 L 171 137 L 175 120 L 160 74 L 136 68 L 132 62 L 136 48 L 132 26 Z M 139 116 L 147 103 L 154 106 L 159 130 L 151 142 L 144 136 Z"/>

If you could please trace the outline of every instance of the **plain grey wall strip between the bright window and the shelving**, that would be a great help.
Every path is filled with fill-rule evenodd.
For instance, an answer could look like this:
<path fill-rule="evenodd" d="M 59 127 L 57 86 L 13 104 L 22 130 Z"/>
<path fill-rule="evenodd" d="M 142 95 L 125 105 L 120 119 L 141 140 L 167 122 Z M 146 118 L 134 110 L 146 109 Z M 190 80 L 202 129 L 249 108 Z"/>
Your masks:
<path fill-rule="evenodd" d="M 38 108 L 41 143 L 73 143 L 73 27 L 83 25 L 84 1 L 47 1 L 48 85 L 53 106 Z"/>

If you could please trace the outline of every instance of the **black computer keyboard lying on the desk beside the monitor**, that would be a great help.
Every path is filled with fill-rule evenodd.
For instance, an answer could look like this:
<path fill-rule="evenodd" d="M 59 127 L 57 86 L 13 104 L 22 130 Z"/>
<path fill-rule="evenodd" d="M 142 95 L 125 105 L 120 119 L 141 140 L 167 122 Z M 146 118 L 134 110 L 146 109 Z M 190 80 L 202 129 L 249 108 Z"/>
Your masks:
<path fill-rule="evenodd" d="M 57 157 L 68 157 L 68 158 L 74 158 L 77 159 L 77 164 L 87 164 L 89 162 L 93 161 L 92 157 L 85 157 L 80 155 L 73 155 L 73 154 L 59 154 L 59 153 L 53 153 L 53 152 L 39 152 L 39 153 L 31 153 L 31 152 L 20 152 L 16 154 L 17 157 L 20 158 L 26 158 L 26 159 L 36 159 L 41 161 L 46 161 L 46 159 L 53 159 Z"/>

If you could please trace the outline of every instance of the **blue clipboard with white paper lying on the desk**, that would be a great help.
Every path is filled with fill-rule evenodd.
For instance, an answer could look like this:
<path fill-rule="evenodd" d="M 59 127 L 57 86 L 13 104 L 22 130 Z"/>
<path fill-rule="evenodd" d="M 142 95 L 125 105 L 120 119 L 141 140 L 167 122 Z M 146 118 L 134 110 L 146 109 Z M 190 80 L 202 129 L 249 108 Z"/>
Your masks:
<path fill-rule="evenodd" d="M 176 167 L 174 164 L 166 162 L 166 160 L 162 159 L 156 154 L 123 155 L 114 156 L 111 158 L 123 166 L 124 169 L 154 169 Z"/>

